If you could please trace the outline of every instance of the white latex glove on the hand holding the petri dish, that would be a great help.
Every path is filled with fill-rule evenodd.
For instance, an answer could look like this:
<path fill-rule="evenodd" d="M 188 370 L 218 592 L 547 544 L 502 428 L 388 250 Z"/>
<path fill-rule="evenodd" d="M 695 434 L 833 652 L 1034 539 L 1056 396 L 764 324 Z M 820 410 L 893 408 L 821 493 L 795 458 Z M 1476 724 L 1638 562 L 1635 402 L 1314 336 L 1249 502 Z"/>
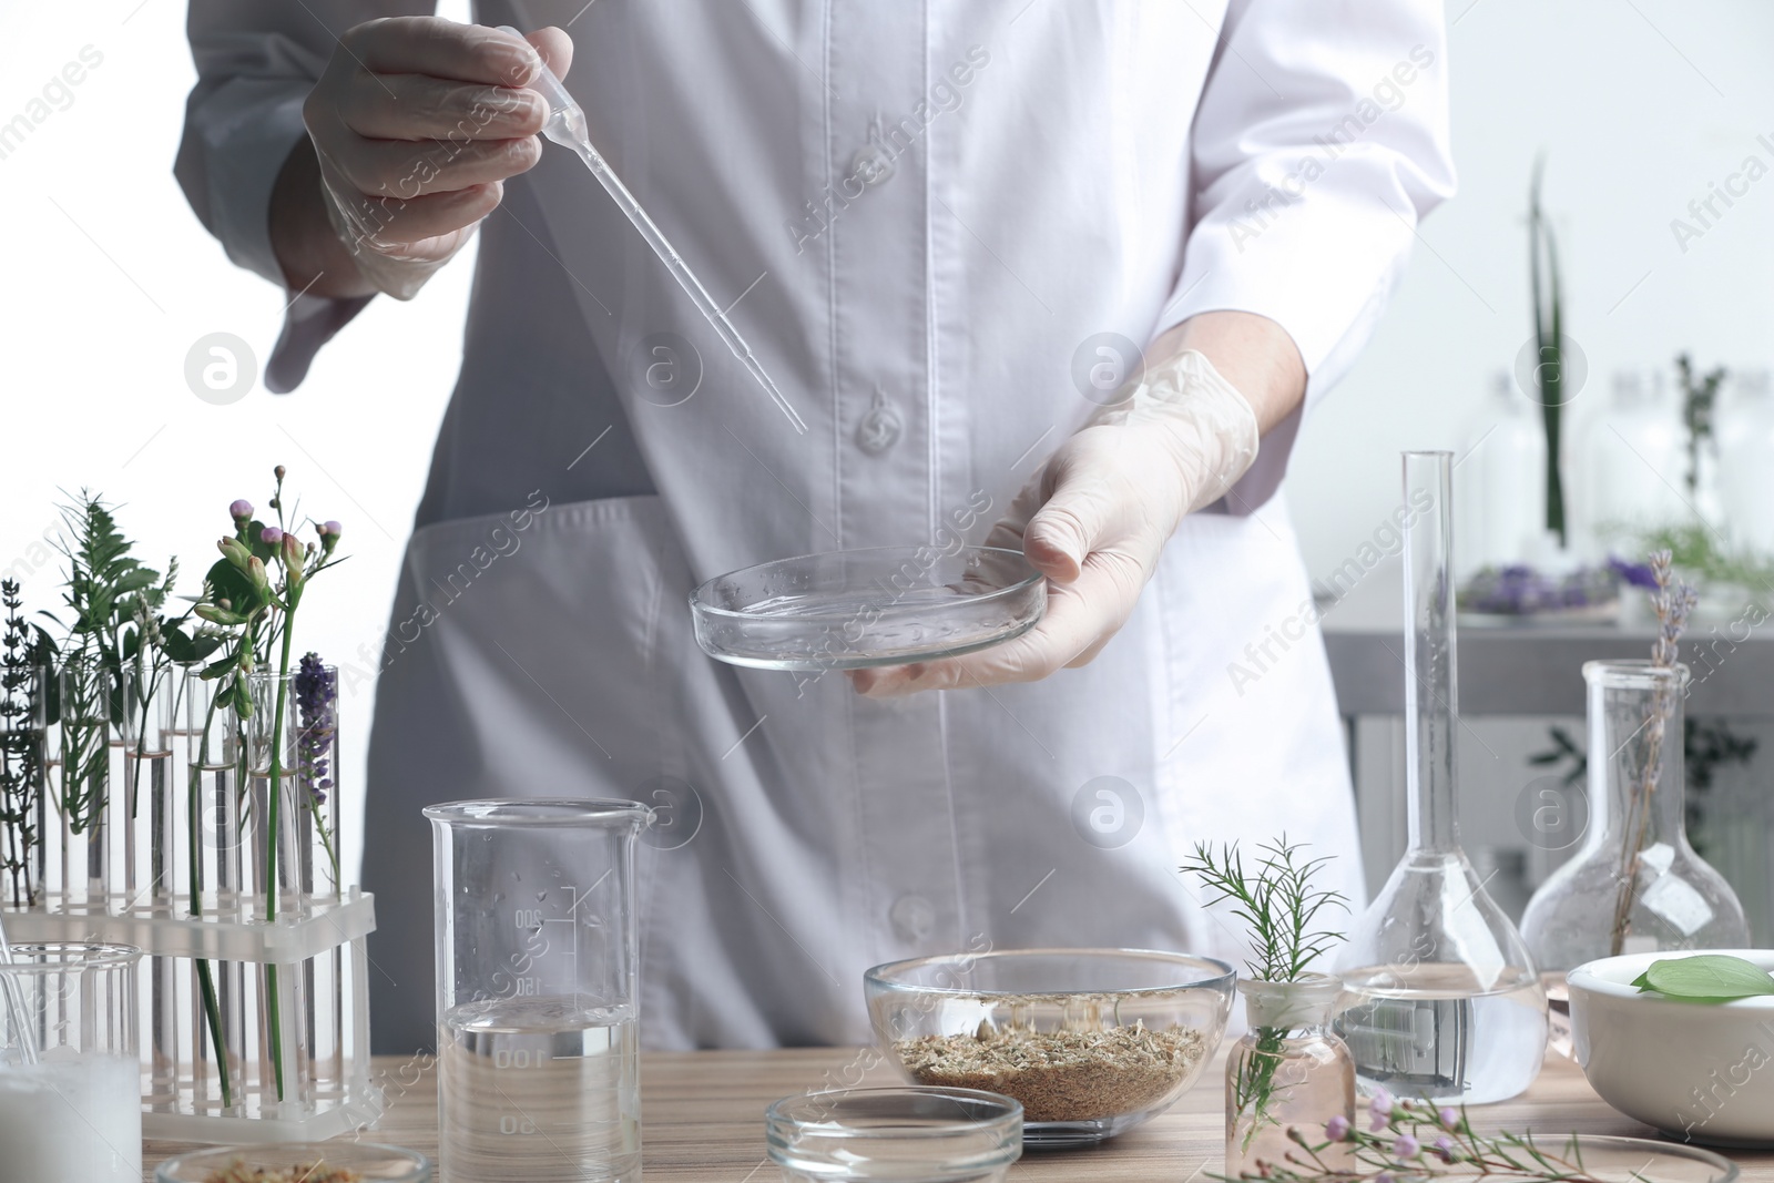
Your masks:
<path fill-rule="evenodd" d="M 1011 500 L 986 546 L 1020 548 L 1048 578 L 1047 615 L 962 658 L 853 670 L 869 697 L 1036 681 L 1109 644 L 1183 514 L 1212 505 L 1256 459 L 1256 413 L 1201 353 L 1150 367 L 1096 411 Z"/>

